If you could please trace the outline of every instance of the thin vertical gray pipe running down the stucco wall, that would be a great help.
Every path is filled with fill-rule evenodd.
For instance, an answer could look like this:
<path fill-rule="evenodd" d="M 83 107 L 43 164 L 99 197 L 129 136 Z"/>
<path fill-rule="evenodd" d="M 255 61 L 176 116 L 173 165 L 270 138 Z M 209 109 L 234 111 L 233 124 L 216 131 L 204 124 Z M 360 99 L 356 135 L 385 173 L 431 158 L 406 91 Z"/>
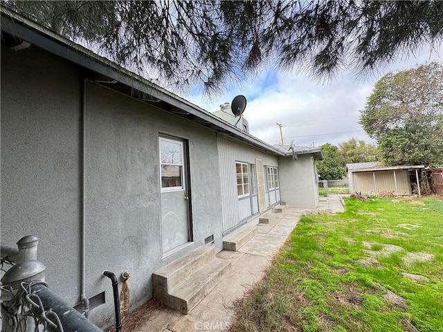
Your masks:
<path fill-rule="evenodd" d="M 82 91 L 82 277 L 80 301 L 84 315 L 89 316 L 89 299 L 86 296 L 86 83 L 83 80 Z"/>

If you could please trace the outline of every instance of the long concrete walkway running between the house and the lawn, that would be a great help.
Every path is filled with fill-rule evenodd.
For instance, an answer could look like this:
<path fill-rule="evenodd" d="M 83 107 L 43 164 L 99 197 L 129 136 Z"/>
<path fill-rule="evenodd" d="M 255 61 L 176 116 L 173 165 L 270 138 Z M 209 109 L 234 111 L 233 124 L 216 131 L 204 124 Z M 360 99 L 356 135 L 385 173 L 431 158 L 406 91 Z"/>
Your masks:
<path fill-rule="evenodd" d="M 320 197 L 316 210 L 289 208 L 275 214 L 273 222 L 258 224 L 257 234 L 238 251 L 222 250 L 217 254 L 219 258 L 230 259 L 232 270 L 188 315 L 169 308 L 158 308 L 134 332 L 226 331 L 235 315 L 235 299 L 243 297 L 262 278 L 266 266 L 287 240 L 300 216 L 307 211 L 343 212 L 343 199 L 338 195 Z"/>

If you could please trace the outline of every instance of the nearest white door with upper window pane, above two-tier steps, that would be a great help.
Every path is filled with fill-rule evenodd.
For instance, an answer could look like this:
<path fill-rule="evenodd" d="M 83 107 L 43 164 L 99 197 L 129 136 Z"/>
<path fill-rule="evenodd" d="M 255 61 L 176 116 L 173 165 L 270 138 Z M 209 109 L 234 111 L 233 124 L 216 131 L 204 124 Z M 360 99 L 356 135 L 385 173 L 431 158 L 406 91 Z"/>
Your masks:
<path fill-rule="evenodd" d="M 185 142 L 160 137 L 163 254 L 191 241 Z"/>

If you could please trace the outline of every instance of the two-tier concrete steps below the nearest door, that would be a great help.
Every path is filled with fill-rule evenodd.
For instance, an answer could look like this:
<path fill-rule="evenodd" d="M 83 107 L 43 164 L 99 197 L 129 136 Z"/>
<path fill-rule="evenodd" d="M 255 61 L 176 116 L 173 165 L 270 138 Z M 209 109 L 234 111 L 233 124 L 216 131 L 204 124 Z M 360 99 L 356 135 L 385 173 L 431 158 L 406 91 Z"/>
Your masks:
<path fill-rule="evenodd" d="M 215 257 L 215 248 L 198 247 L 152 274 L 154 298 L 188 314 L 230 271 L 231 263 Z"/>

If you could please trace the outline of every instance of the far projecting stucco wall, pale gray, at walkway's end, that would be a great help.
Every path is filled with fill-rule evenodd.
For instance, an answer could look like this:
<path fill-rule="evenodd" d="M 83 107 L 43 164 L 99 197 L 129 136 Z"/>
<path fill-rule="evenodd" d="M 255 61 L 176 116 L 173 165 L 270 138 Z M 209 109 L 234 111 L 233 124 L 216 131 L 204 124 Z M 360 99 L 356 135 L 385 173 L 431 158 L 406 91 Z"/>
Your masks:
<path fill-rule="evenodd" d="M 314 209 L 318 203 L 318 187 L 314 158 L 302 154 L 298 160 L 279 157 L 280 194 L 289 208 Z"/>

